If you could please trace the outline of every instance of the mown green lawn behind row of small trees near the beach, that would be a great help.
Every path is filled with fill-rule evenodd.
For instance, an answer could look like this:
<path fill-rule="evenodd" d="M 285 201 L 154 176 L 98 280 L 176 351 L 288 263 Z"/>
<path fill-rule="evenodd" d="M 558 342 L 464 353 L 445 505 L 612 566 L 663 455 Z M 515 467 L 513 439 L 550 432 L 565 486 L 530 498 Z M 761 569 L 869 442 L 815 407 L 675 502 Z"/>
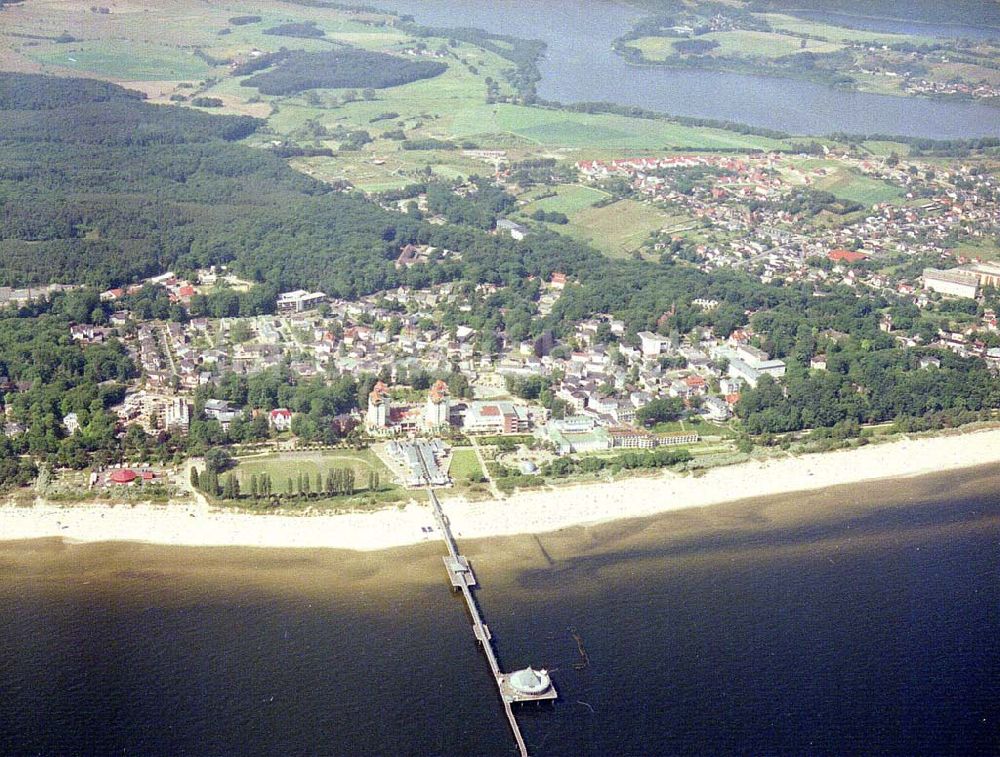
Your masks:
<path fill-rule="evenodd" d="M 274 491 L 285 492 L 288 478 L 298 480 L 299 473 L 309 476 L 309 483 L 315 486 L 316 474 L 326 481 L 326 474 L 331 468 L 351 468 L 354 471 L 358 490 L 368 486 L 368 474 L 375 471 L 379 474 L 382 488 L 396 488 L 392 484 L 392 474 L 370 450 L 334 450 L 330 452 L 285 452 L 246 458 L 236 468 L 240 477 L 240 487 L 249 491 L 250 477 L 254 474 L 271 476 Z"/>

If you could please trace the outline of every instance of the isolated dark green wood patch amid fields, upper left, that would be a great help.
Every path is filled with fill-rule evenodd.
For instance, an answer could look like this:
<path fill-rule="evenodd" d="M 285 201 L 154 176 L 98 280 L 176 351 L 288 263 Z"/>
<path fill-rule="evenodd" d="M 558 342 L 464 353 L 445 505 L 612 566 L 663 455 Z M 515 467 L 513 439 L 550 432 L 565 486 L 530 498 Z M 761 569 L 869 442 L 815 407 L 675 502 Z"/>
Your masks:
<path fill-rule="evenodd" d="M 293 95 L 309 89 L 385 89 L 431 79 L 447 70 L 439 61 L 406 60 L 349 48 L 321 53 L 295 50 L 270 71 L 240 82 L 265 95 Z"/>

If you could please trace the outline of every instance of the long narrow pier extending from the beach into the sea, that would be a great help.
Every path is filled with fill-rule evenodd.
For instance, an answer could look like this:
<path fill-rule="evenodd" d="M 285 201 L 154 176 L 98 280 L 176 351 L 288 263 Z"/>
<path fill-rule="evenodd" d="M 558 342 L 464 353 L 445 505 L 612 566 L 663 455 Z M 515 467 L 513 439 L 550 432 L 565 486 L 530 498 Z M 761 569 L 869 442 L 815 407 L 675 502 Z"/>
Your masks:
<path fill-rule="evenodd" d="M 483 621 L 483 616 L 479 612 L 479 606 L 472 595 L 472 587 L 476 585 L 476 577 L 472 572 L 472 567 L 469 565 L 469 561 L 459 554 L 455 538 L 451 534 L 451 526 L 445 517 L 444 511 L 441 509 L 441 503 L 438 501 L 434 490 L 428 488 L 427 495 L 431 501 L 434 518 L 437 521 L 438 528 L 441 530 L 441 536 L 448 547 L 448 556 L 442 559 L 444 560 L 445 568 L 448 570 L 451 585 L 453 588 L 461 591 L 462 596 L 465 598 L 465 605 L 469 610 L 469 615 L 472 616 L 472 632 L 482 645 L 486 661 L 490 665 L 493 680 L 497 685 L 497 690 L 500 692 L 500 701 L 503 702 L 504 713 L 507 715 L 507 722 L 510 723 L 510 729 L 514 733 L 514 741 L 517 742 L 517 748 L 520 750 L 521 757 L 528 757 L 528 747 L 524 743 L 524 736 L 521 735 L 521 727 L 517 724 L 517 718 L 514 717 L 514 710 L 511 705 L 514 702 L 540 702 L 555 699 L 558 694 L 555 687 L 551 685 L 539 694 L 525 694 L 510 685 L 510 676 L 500 669 L 500 663 L 497 662 L 496 653 L 493 651 L 493 636 L 490 634 L 489 626 Z"/>

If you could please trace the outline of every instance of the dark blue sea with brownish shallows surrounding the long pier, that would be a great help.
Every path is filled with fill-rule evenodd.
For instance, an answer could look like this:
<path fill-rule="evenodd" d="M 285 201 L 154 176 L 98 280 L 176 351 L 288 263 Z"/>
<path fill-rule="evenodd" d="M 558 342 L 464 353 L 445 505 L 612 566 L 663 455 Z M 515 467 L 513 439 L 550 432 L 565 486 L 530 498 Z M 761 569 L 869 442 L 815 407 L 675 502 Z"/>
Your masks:
<path fill-rule="evenodd" d="M 979 471 L 463 547 L 501 662 L 555 669 L 560 701 L 519 713 L 537 757 L 988 755 L 998 493 Z M 0 545 L 0 754 L 514 754 L 441 551 Z"/>

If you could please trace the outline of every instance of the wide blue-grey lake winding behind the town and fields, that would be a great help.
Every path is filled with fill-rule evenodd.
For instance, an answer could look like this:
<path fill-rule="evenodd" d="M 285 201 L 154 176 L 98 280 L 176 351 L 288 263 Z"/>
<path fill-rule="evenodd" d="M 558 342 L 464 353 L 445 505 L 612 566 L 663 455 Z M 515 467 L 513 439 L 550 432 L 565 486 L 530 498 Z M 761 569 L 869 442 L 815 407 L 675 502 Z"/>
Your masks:
<path fill-rule="evenodd" d="M 900 134 L 935 139 L 1000 136 L 1000 109 L 873 95 L 797 79 L 630 66 L 611 48 L 640 13 L 609 0 L 378 0 L 428 26 L 473 26 L 542 39 L 538 94 L 606 101 L 793 134 Z M 924 31 L 923 33 L 929 33 Z"/>

